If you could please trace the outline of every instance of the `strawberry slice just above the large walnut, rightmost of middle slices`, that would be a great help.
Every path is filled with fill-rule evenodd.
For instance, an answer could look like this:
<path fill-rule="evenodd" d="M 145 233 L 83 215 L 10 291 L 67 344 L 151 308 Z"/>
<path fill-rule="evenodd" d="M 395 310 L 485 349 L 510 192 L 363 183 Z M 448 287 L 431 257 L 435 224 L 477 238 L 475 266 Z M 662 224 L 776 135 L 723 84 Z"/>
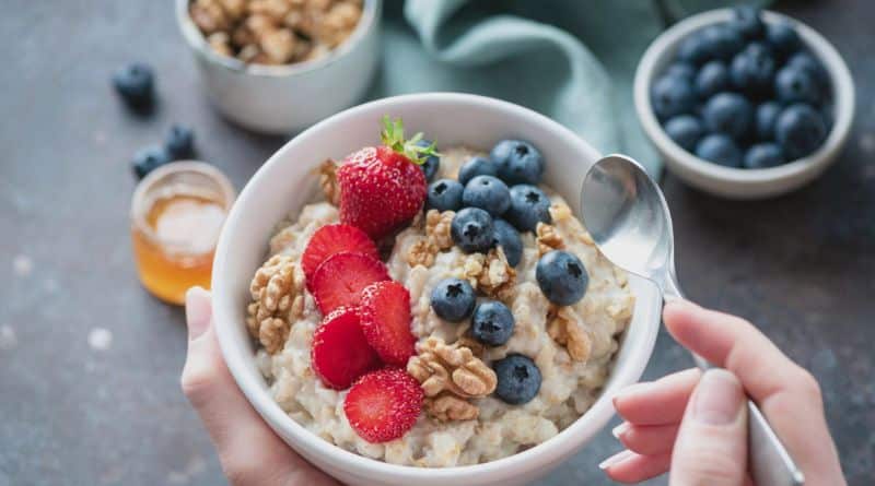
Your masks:
<path fill-rule="evenodd" d="M 364 336 L 384 363 L 407 366 L 416 336 L 410 332 L 410 293 L 398 282 L 376 282 L 362 292 L 359 307 Z"/>

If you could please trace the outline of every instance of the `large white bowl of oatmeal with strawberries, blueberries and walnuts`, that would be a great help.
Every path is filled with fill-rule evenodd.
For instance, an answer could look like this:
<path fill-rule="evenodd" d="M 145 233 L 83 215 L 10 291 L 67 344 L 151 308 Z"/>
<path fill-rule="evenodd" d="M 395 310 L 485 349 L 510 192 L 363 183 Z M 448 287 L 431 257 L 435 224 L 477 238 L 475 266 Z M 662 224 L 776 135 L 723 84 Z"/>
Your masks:
<path fill-rule="evenodd" d="M 381 140 L 386 115 L 428 142 L 393 142 L 392 123 Z M 598 157 L 541 115 L 464 94 L 381 99 L 303 132 L 243 189 L 217 249 L 214 319 L 238 386 L 348 484 L 546 474 L 607 424 L 660 324 L 657 289 L 605 260 L 576 215 Z M 447 202 L 438 187 L 459 179 Z M 499 221 L 518 245 L 478 240 Z"/>

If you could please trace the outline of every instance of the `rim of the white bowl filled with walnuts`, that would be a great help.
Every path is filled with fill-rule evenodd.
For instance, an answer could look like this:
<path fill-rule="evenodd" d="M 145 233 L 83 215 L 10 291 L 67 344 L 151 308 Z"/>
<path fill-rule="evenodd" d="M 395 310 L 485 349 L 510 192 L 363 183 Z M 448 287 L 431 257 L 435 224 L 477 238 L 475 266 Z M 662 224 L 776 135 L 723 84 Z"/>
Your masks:
<path fill-rule="evenodd" d="M 213 50 L 209 43 L 207 43 L 207 38 L 200 32 L 200 28 L 198 28 L 195 21 L 191 20 L 191 15 L 188 14 L 188 5 L 190 3 L 191 0 L 176 0 L 176 23 L 186 43 L 197 55 L 202 56 L 207 61 L 221 66 L 229 71 L 261 78 L 287 78 L 325 68 L 345 58 L 355 46 L 361 44 L 365 34 L 377 24 L 383 0 L 364 0 L 362 4 L 362 16 L 359 19 L 359 23 L 355 25 L 352 34 L 335 49 L 331 49 L 328 55 L 310 61 L 281 66 L 248 64 L 240 59 L 222 56 Z"/>

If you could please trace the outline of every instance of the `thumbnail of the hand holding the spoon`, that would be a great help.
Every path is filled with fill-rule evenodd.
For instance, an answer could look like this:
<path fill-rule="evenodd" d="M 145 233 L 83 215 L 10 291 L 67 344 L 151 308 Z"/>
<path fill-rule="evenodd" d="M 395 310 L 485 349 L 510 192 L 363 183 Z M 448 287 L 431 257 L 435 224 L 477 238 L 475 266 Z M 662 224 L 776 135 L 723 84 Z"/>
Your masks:
<path fill-rule="evenodd" d="M 692 417 L 703 424 L 731 424 L 743 403 L 744 392 L 738 379 L 725 369 L 709 369 L 696 388 Z"/>

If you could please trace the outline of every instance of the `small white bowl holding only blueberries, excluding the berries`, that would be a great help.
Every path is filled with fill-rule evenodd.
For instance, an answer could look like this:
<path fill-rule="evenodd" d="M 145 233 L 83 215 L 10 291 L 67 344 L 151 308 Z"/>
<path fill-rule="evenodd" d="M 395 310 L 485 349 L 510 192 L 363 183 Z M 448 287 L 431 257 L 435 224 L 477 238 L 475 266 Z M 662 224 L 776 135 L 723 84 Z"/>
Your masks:
<path fill-rule="evenodd" d="M 782 194 L 814 180 L 836 161 L 841 152 L 854 117 L 854 83 L 839 52 L 827 39 L 807 25 L 774 12 L 763 12 L 767 23 L 789 22 L 803 43 L 822 62 L 832 84 L 833 125 L 826 142 L 807 157 L 767 169 L 723 167 L 703 161 L 676 144 L 663 130 L 653 112 L 650 87 L 668 64 L 681 40 L 700 28 L 728 21 L 731 9 L 712 10 L 692 15 L 653 40 L 634 80 L 635 109 L 644 132 L 663 156 L 668 169 L 690 186 L 730 199 L 759 199 Z"/>

